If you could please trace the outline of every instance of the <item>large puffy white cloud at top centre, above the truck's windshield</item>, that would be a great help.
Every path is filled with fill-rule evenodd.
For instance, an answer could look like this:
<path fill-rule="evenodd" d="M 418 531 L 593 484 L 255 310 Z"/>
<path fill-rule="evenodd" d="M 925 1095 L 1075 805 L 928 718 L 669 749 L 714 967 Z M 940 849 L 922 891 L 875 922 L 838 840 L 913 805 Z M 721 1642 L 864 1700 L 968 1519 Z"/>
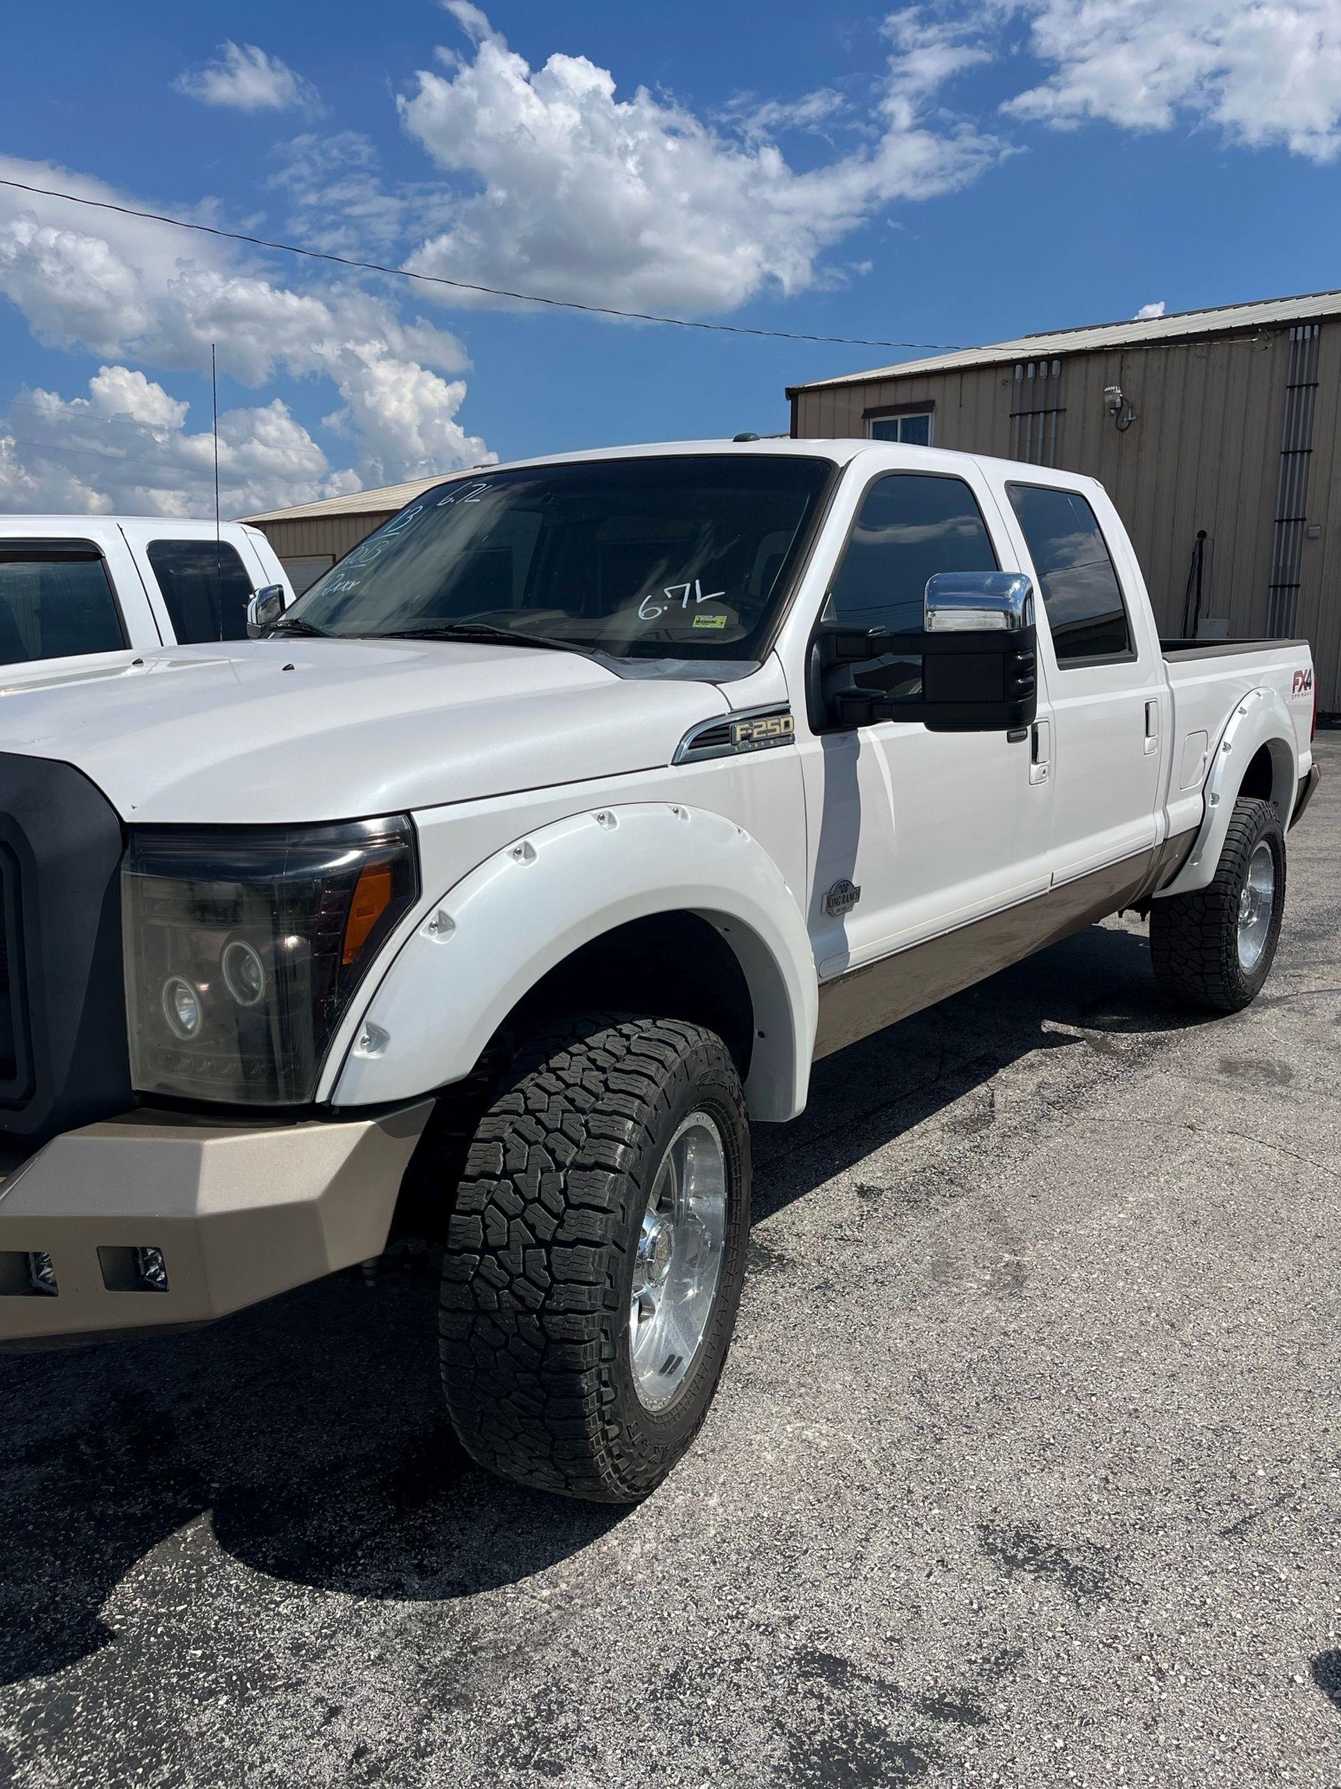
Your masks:
<path fill-rule="evenodd" d="M 447 11 L 470 54 L 440 52 L 401 118 L 438 168 L 477 190 L 452 197 L 445 227 L 408 263 L 418 272 L 628 309 L 733 309 L 814 286 L 822 250 L 873 211 L 962 186 L 998 154 L 932 109 L 983 52 L 919 7 L 889 27 L 873 140 L 806 170 L 772 132 L 833 114 L 824 93 L 756 107 L 724 134 L 647 88 L 620 95 L 585 55 L 533 70 L 479 7 Z"/>

